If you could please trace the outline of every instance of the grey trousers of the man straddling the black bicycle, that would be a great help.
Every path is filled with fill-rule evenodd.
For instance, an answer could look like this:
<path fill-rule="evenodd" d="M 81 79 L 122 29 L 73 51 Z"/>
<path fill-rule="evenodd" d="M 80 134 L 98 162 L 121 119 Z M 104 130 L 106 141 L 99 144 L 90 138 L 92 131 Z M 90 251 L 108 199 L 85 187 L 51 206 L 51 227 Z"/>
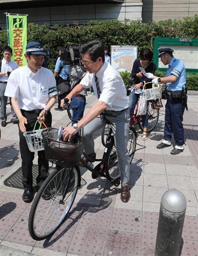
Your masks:
<path fill-rule="evenodd" d="M 107 118 L 113 123 L 112 130 L 114 134 L 116 153 L 118 156 L 118 165 L 121 173 L 121 182 L 122 184 L 127 184 L 129 182 L 130 171 L 130 160 L 127 151 L 130 121 L 129 109 L 122 112 L 116 112 L 116 114 L 116 117 L 108 116 Z M 84 151 L 86 154 L 94 152 L 93 134 L 105 125 L 106 121 L 101 120 L 98 117 L 85 125 L 84 137 L 86 138 L 86 141 Z"/>

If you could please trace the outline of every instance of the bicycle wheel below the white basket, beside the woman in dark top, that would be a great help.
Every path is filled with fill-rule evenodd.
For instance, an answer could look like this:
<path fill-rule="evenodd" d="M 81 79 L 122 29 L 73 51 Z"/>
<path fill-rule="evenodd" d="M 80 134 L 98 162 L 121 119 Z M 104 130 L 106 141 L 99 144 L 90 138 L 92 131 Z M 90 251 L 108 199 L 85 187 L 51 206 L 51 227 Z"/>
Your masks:
<path fill-rule="evenodd" d="M 149 102 L 148 107 L 147 107 L 147 113 L 149 114 L 147 131 L 152 131 L 158 123 L 159 109 L 153 109 L 151 107 L 151 102 Z M 138 125 L 139 125 L 140 129 L 143 131 L 142 122 L 139 122 Z"/>

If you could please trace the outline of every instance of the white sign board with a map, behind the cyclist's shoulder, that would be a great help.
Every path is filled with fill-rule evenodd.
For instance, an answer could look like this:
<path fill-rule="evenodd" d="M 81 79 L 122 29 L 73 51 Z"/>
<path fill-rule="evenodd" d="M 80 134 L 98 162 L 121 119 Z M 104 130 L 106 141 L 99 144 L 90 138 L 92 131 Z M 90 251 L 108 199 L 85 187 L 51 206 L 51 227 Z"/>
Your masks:
<path fill-rule="evenodd" d="M 129 71 L 131 72 L 133 62 L 137 58 L 138 47 L 137 46 L 111 46 L 111 65 L 118 72 Z"/>

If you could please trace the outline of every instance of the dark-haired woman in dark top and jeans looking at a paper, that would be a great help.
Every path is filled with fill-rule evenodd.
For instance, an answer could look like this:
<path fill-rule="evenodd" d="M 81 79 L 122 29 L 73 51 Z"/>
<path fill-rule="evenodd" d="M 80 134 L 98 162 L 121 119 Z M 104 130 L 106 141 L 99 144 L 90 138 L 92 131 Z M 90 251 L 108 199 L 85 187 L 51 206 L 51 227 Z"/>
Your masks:
<path fill-rule="evenodd" d="M 141 95 L 141 89 L 143 87 L 143 81 L 150 82 L 152 79 L 147 78 L 143 75 L 141 71 L 141 67 L 144 68 L 146 73 L 155 73 L 156 66 L 152 62 L 153 53 L 148 48 L 143 48 L 140 51 L 140 58 L 137 58 L 132 67 L 131 76 L 134 78 L 131 93 L 129 95 L 129 112 L 130 115 L 133 115 L 135 105 L 138 102 L 139 96 Z M 149 71 L 148 71 L 149 70 Z M 150 85 L 152 87 L 152 84 Z M 149 89 L 149 86 L 146 87 L 146 89 Z M 148 114 L 142 116 L 142 126 L 143 126 L 143 135 L 142 140 L 147 140 L 147 126 L 148 126 Z"/>

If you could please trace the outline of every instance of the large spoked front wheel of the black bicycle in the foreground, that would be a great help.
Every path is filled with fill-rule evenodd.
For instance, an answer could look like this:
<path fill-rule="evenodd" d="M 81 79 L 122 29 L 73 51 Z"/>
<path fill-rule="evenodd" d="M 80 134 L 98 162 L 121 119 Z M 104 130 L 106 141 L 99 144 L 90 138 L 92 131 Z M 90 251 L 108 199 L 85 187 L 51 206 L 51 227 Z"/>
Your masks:
<path fill-rule="evenodd" d="M 55 233 L 65 221 L 80 186 L 80 170 L 55 169 L 43 182 L 29 213 L 28 229 L 34 240 L 43 240 Z"/>

